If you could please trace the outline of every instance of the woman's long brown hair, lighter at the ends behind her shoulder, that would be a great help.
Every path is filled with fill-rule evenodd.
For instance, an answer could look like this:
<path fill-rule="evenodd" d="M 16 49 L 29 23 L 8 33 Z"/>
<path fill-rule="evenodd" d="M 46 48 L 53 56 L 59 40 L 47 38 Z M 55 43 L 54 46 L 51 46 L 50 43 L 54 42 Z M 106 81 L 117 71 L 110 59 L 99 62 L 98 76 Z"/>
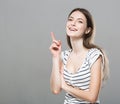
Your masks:
<path fill-rule="evenodd" d="M 103 80 L 105 80 L 108 78 L 108 75 L 109 75 L 108 58 L 106 56 L 105 51 L 101 47 L 94 44 L 95 26 L 94 26 L 94 21 L 93 21 L 92 15 L 90 14 L 90 12 L 88 10 L 86 10 L 84 8 L 75 8 L 70 12 L 70 14 L 68 15 L 68 18 L 75 11 L 79 11 L 79 12 L 83 13 L 83 15 L 86 17 L 86 20 L 87 20 L 87 28 L 90 28 L 90 32 L 88 32 L 87 34 L 84 34 L 82 37 L 83 38 L 83 46 L 87 49 L 97 48 L 103 53 L 103 56 L 104 56 L 103 57 L 104 58 Z M 68 46 L 72 49 L 70 37 L 68 35 L 67 35 L 67 43 L 68 43 Z"/>

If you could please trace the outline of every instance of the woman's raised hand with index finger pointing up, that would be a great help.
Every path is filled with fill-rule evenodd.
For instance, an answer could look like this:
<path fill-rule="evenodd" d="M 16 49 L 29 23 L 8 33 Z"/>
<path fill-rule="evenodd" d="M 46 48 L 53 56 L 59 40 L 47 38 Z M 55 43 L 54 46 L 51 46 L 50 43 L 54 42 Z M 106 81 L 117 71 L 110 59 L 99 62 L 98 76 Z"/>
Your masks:
<path fill-rule="evenodd" d="M 53 32 L 51 32 L 51 38 L 52 38 L 52 44 L 49 49 L 53 56 L 58 56 L 61 53 L 61 41 L 56 40 Z"/>

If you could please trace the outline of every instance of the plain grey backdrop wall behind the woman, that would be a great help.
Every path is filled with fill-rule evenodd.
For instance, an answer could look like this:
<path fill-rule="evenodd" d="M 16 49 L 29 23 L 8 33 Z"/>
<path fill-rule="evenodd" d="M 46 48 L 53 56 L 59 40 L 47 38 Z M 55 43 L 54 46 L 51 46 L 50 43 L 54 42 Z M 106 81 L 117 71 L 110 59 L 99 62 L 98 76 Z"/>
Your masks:
<path fill-rule="evenodd" d="M 119 104 L 119 0 L 0 0 L 0 104 L 62 104 L 64 92 L 50 92 L 50 32 L 66 49 L 65 24 L 75 7 L 95 20 L 95 42 L 105 48 L 111 77 L 101 104 Z"/>

